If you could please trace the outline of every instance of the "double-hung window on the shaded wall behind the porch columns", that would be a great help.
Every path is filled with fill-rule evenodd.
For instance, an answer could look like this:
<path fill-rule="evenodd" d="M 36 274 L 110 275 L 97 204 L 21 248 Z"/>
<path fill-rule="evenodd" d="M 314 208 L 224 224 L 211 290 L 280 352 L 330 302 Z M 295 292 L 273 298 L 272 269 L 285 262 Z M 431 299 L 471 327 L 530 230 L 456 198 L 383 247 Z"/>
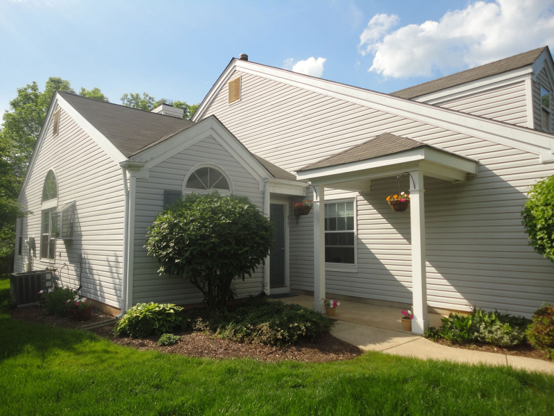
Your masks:
<path fill-rule="evenodd" d="M 356 264 L 355 200 L 325 203 L 325 263 Z"/>

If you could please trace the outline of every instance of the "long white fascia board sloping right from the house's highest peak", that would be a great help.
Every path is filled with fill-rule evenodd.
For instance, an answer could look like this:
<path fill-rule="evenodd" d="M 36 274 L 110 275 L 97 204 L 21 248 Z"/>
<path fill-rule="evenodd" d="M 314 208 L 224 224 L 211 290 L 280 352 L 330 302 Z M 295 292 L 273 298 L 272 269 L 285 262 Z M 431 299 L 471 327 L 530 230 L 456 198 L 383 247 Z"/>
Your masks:
<path fill-rule="evenodd" d="M 398 98 L 380 92 L 368 91 L 359 87 L 342 85 L 321 78 L 304 76 L 285 69 L 264 67 L 253 62 L 236 61 L 229 70 L 232 68 L 387 112 L 388 114 L 395 114 L 413 121 L 434 125 L 445 130 L 535 153 L 541 156 L 542 162 L 554 162 L 554 155 L 551 151 L 551 144 L 554 144 L 554 135 L 549 133 L 485 119 L 481 116 L 457 112 L 427 103 L 418 103 L 418 101 Z"/>

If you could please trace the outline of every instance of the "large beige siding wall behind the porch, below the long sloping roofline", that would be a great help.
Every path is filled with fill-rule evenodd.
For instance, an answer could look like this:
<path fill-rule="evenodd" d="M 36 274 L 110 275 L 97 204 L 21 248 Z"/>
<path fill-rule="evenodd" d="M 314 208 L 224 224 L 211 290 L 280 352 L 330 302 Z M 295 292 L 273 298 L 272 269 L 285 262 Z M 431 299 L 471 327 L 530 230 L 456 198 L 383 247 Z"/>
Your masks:
<path fill-rule="evenodd" d="M 527 245 L 519 214 L 530 185 L 554 173 L 538 155 L 236 74 L 242 75 L 240 103 L 228 105 L 223 87 L 205 116 L 215 114 L 249 150 L 288 171 L 384 132 L 479 159 L 479 174 L 465 184 L 425 178 L 429 305 L 530 315 L 543 301 L 554 302 L 553 265 Z M 519 97 L 517 88 L 513 93 Z M 357 194 L 358 269 L 328 270 L 328 293 L 411 302 L 409 212 L 395 213 L 385 201 L 395 186 L 395 178 L 373 180 L 370 193 Z M 350 195 L 332 191 L 325 199 Z M 312 214 L 298 225 L 291 221 L 292 289 L 313 290 L 312 236 Z"/>

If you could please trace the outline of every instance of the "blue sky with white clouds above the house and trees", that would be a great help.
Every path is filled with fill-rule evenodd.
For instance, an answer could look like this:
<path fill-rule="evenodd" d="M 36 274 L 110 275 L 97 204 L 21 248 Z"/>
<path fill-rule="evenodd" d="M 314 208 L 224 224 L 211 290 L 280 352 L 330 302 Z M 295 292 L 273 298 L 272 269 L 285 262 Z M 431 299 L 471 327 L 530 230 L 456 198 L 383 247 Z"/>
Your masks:
<path fill-rule="evenodd" d="M 17 87 L 42 89 L 49 76 L 113 103 L 125 92 L 196 103 L 239 53 L 393 92 L 552 49 L 553 15 L 548 0 L 0 0 L 0 111 Z"/>

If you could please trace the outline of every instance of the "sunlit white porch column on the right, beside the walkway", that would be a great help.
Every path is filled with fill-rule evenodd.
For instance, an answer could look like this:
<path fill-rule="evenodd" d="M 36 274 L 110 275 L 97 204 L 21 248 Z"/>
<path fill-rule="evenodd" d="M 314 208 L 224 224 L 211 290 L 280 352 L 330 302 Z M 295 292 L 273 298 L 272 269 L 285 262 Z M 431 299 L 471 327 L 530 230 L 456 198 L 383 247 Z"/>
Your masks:
<path fill-rule="evenodd" d="M 413 320 L 411 331 L 424 333 L 429 328 L 427 318 L 427 273 L 425 270 L 425 203 L 423 173 L 410 172 L 411 278 L 413 286 Z M 415 182 L 415 183 L 414 183 Z"/>

